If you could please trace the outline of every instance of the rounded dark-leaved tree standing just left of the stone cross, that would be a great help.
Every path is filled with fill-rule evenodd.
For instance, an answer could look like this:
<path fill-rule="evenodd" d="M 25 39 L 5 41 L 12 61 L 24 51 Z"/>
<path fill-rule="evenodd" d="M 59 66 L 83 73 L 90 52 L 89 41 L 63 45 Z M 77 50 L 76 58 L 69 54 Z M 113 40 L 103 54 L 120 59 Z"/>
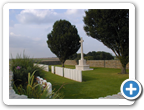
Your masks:
<path fill-rule="evenodd" d="M 48 47 L 59 58 L 63 67 L 65 60 L 80 48 L 78 31 L 66 20 L 56 21 L 47 38 Z"/>

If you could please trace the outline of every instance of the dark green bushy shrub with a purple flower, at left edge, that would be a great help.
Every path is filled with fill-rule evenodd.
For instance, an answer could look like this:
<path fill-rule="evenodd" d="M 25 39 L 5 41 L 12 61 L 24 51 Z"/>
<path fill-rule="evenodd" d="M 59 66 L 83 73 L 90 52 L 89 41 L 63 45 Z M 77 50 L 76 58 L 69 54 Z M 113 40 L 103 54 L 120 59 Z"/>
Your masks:
<path fill-rule="evenodd" d="M 23 57 L 21 57 L 20 54 L 17 54 L 16 59 L 11 60 L 10 69 L 13 71 L 13 81 L 15 82 L 15 86 L 18 87 L 21 85 L 22 87 L 26 88 L 28 73 L 32 73 L 35 70 L 35 75 L 42 77 L 42 68 L 34 66 L 33 63 L 34 59 L 29 58 L 24 53 Z"/>

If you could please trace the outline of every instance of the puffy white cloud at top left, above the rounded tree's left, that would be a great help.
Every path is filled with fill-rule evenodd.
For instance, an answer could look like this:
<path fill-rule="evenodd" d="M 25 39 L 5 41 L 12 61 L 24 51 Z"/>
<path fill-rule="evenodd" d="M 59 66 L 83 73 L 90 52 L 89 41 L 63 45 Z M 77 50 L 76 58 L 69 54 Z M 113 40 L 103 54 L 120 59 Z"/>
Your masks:
<path fill-rule="evenodd" d="M 58 16 L 54 10 L 42 10 L 42 9 L 25 9 L 17 15 L 17 19 L 20 23 L 51 23 L 54 22 Z"/>

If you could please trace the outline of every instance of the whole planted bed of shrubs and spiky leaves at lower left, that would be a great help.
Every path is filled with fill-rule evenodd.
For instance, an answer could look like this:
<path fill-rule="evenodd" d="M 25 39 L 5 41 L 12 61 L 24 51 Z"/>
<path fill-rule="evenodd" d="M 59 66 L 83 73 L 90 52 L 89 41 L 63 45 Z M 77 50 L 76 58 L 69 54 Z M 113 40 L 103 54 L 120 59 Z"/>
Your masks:
<path fill-rule="evenodd" d="M 41 85 L 37 82 L 37 76 L 43 78 L 43 67 L 33 65 L 34 60 L 23 54 L 17 55 L 10 62 L 12 75 L 12 87 L 16 94 L 26 95 L 28 98 L 49 99 L 58 98 L 59 95 L 52 91 L 50 82 Z M 32 73 L 32 74 L 31 74 Z M 49 86 L 48 86 L 49 85 Z"/>

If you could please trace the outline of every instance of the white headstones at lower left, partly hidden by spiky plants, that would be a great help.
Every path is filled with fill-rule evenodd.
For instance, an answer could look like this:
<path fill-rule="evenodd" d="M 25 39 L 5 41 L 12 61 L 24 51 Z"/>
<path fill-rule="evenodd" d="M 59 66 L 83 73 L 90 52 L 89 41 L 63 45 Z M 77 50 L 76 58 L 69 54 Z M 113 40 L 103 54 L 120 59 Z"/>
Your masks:
<path fill-rule="evenodd" d="M 42 89 L 47 89 L 48 95 L 52 94 L 52 84 L 50 82 L 47 82 L 43 78 L 40 78 L 39 76 L 36 77 L 36 80 L 38 84 L 42 86 Z M 51 97 L 51 96 L 50 96 Z"/>

